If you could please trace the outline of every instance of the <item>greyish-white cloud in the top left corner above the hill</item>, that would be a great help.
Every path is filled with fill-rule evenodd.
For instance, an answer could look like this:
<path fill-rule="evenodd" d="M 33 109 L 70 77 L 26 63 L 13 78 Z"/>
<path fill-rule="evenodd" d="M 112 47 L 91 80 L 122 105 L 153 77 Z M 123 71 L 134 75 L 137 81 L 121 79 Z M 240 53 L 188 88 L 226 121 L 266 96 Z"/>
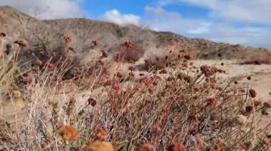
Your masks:
<path fill-rule="evenodd" d="M 80 8 L 81 0 L 1 0 L 0 5 L 40 19 L 75 18 L 86 16 Z"/>

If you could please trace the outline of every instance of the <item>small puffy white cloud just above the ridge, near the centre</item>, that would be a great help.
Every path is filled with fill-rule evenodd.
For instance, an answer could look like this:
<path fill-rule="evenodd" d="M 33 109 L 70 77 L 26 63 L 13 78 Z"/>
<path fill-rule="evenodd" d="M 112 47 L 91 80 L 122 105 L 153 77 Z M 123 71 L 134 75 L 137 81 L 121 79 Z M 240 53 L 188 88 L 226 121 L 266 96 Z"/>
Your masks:
<path fill-rule="evenodd" d="M 113 23 L 117 23 L 121 26 L 125 25 L 140 25 L 140 17 L 133 15 L 133 14 L 122 14 L 116 9 L 113 9 L 111 11 L 106 11 L 106 13 L 103 14 L 103 20 L 110 21 Z"/>

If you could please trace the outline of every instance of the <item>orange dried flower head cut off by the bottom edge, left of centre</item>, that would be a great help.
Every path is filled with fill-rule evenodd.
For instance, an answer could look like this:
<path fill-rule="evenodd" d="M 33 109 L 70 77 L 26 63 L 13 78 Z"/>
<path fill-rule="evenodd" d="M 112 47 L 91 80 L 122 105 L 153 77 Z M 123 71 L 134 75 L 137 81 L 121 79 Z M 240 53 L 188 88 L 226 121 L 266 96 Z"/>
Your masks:
<path fill-rule="evenodd" d="M 111 142 L 104 142 L 104 141 L 93 141 L 88 142 L 86 146 L 87 151 L 113 151 L 114 147 Z"/>

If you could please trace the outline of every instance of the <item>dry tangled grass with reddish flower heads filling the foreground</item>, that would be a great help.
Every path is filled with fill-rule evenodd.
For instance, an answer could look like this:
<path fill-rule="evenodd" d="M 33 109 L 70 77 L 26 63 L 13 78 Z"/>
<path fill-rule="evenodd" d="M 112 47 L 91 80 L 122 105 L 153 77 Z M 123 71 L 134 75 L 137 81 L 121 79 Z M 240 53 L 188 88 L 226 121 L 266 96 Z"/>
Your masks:
<path fill-rule="evenodd" d="M 116 150 L 270 147 L 270 124 L 257 128 L 265 114 L 255 118 L 257 110 L 268 109 L 266 104 L 256 104 L 248 87 L 219 82 L 215 76 L 224 73 L 217 67 L 194 67 L 182 55 L 168 67 L 150 65 L 138 77 L 138 71 L 121 75 L 110 70 L 111 64 L 123 62 L 95 60 L 91 72 L 81 70 L 67 80 L 63 76 L 71 62 L 61 56 L 61 62 L 49 59 L 42 66 L 35 64 L 27 74 L 14 77 L 9 89 L 1 89 L 1 95 L 15 88 L 21 91 L 26 113 L 14 113 L 14 123 L 1 115 L 0 150 L 113 150 L 112 145 Z M 101 52 L 103 57 L 108 56 Z M 17 64 L 12 68 L 20 69 Z M 113 77 L 108 76 L 108 68 Z M 6 70 L 1 72 L 6 75 Z M 0 82 L 1 87 L 10 83 Z M 67 93 L 67 89 L 71 90 Z M 14 101 L 12 95 L 3 98 Z"/>

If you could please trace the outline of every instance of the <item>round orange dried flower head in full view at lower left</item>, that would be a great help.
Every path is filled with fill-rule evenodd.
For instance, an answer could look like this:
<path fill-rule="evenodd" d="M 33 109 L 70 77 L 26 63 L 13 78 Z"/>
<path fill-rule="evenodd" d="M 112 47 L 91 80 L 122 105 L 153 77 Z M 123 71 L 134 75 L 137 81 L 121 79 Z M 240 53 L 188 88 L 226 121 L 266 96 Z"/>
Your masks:
<path fill-rule="evenodd" d="M 70 125 L 63 125 L 59 134 L 64 140 L 67 141 L 76 141 L 79 137 L 76 128 Z"/>

